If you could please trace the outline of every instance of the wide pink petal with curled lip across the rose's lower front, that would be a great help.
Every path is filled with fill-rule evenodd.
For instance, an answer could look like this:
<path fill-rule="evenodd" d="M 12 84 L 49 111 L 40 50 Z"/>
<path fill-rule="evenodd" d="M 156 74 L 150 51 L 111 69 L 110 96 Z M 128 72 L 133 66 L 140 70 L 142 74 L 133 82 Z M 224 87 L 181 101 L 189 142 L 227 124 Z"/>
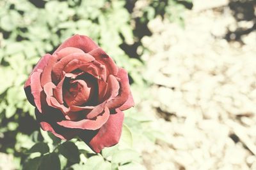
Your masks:
<path fill-rule="evenodd" d="M 70 120 L 63 120 L 61 122 L 57 122 L 57 124 L 68 127 L 68 128 L 77 128 L 77 129 L 87 129 L 87 130 L 96 130 L 102 127 L 109 118 L 109 110 L 105 108 L 103 113 L 96 117 L 94 120 L 91 119 L 83 119 L 77 122 Z"/>

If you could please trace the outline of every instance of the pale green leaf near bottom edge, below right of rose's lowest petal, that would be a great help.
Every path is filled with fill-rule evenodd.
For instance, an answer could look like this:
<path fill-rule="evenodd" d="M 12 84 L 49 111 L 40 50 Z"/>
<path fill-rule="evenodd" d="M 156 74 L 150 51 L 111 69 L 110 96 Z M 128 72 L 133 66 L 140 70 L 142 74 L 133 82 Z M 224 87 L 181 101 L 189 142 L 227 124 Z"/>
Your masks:
<path fill-rule="evenodd" d="M 139 162 L 140 154 L 134 150 L 125 149 L 114 153 L 111 162 L 113 162 L 114 164 L 125 164 L 132 161 Z"/>

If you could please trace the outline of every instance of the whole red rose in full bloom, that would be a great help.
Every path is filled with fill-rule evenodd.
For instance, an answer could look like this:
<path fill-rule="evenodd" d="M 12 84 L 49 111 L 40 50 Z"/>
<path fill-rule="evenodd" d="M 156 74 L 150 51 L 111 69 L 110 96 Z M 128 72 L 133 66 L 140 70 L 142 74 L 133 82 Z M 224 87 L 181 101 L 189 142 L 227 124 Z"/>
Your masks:
<path fill-rule="evenodd" d="M 87 36 L 72 36 L 44 55 L 24 90 L 44 131 L 79 136 L 97 153 L 118 143 L 122 111 L 134 104 L 127 72 Z"/>

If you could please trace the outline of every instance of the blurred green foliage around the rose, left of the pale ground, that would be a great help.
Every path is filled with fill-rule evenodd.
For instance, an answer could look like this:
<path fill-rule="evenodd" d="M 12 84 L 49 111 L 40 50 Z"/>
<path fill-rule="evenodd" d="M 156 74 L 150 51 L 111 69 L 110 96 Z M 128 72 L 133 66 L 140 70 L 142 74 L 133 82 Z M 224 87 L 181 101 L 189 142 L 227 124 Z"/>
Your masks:
<path fill-rule="evenodd" d="M 135 101 L 148 97 L 148 83 L 140 74 L 140 54 L 132 56 L 131 51 L 136 51 L 140 39 L 150 34 L 149 20 L 161 15 L 182 24 L 182 11 L 191 2 L 148 0 L 143 16 L 132 18 L 129 5 L 134 3 L 0 0 L 0 152 L 14 156 L 15 169 L 144 168 L 134 145 L 143 139 L 154 142 L 159 134 L 150 129 L 147 113 L 140 113 L 136 107 L 125 111 L 120 143 L 95 154 L 79 139 L 60 141 L 40 130 L 23 90 L 24 81 L 42 55 L 54 52 L 70 36 L 84 34 L 129 71 L 132 90 L 144 92 Z"/>

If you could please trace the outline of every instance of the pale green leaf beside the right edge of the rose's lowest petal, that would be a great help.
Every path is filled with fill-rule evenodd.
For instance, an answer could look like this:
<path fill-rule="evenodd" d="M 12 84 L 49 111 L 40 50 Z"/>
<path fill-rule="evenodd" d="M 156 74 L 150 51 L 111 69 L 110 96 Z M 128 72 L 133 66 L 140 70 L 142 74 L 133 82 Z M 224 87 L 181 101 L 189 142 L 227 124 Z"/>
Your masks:
<path fill-rule="evenodd" d="M 122 136 L 120 138 L 119 145 L 124 148 L 132 147 L 132 133 L 127 125 L 123 125 Z"/>

